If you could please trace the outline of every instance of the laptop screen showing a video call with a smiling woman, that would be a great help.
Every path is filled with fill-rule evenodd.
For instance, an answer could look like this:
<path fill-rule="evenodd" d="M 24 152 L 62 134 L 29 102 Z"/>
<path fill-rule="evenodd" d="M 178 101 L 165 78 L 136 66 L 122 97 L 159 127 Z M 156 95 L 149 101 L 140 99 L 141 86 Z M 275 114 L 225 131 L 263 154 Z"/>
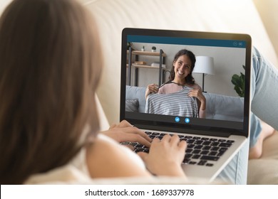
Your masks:
<path fill-rule="evenodd" d="M 185 72 L 173 67 L 178 52 L 190 52 L 187 56 L 195 58 L 191 72 L 195 84 L 173 81 L 175 72 Z M 245 34 L 125 28 L 120 119 L 148 129 L 247 136 L 250 63 L 251 38 Z M 158 93 L 145 95 L 148 85 L 158 87 Z M 163 92 L 165 86 L 168 92 Z M 200 100 L 188 95 L 197 89 L 206 99 L 205 112 L 200 111 Z"/>

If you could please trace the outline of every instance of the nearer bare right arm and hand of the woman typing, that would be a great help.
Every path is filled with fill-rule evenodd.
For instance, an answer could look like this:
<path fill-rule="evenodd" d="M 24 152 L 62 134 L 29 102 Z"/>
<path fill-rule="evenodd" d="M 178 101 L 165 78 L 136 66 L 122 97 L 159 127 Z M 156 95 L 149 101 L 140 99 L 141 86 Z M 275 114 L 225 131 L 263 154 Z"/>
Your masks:
<path fill-rule="evenodd" d="M 96 139 L 87 148 L 88 170 L 92 178 L 120 178 L 141 176 L 185 176 L 181 163 L 185 156 L 186 142 L 178 136 L 166 135 L 160 141 L 154 139 L 150 153 L 133 151 L 108 139 Z M 140 163 L 141 162 L 141 163 Z"/>

